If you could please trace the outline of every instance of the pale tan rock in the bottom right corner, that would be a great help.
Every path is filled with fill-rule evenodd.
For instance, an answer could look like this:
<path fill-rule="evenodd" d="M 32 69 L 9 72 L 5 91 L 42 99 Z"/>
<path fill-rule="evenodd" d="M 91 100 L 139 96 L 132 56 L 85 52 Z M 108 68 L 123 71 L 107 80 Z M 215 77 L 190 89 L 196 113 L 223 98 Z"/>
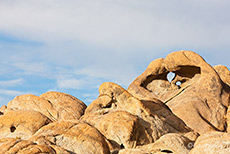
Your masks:
<path fill-rule="evenodd" d="M 230 153 L 230 134 L 217 131 L 202 134 L 190 152 L 190 154 L 228 153 Z"/>

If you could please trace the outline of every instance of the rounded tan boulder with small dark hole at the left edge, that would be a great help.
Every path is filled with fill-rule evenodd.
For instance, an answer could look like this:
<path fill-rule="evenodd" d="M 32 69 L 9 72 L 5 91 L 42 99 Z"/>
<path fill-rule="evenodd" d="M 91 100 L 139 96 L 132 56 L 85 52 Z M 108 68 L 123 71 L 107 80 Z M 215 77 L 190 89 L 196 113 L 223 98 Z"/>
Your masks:
<path fill-rule="evenodd" d="M 49 118 L 40 112 L 28 110 L 8 111 L 0 116 L 0 138 L 28 139 L 49 122 Z"/>

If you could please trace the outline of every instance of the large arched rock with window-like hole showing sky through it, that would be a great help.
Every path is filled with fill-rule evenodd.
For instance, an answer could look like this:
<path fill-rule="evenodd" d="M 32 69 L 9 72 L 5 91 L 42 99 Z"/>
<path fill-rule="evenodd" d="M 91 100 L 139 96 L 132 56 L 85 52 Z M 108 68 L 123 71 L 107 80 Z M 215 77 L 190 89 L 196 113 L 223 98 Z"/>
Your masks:
<path fill-rule="evenodd" d="M 167 79 L 170 72 L 175 73 L 171 82 Z M 229 94 L 213 67 L 192 51 L 152 61 L 128 91 L 140 100 L 160 99 L 199 133 L 226 129 Z"/>

